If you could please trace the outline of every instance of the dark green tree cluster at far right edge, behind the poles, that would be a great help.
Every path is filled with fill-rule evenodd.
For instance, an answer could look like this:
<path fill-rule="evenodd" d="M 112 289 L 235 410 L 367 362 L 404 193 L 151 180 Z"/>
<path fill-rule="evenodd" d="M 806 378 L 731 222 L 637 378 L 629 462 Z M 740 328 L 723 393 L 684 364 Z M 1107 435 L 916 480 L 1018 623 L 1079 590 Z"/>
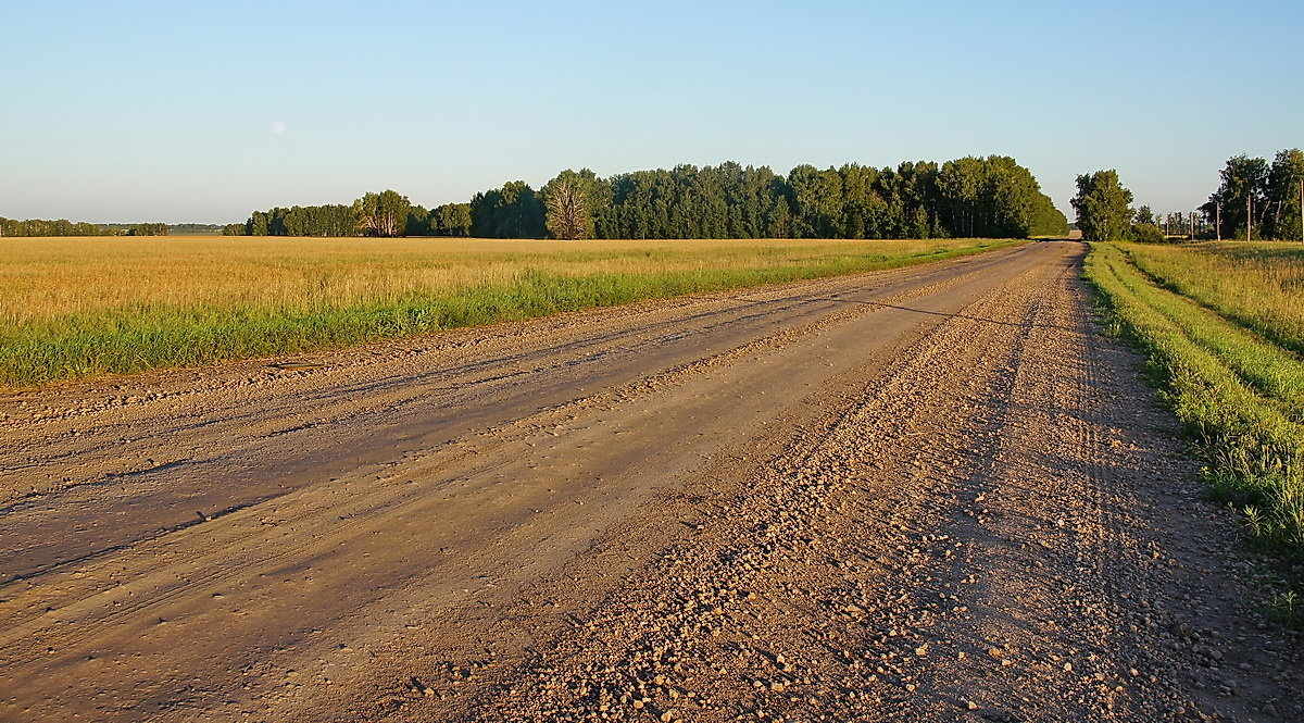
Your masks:
<path fill-rule="evenodd" d="M 1205 219 L 1223 239 L 1301 240 L 1300 205 L 1304 183 L 1304 151 L 1278 151 L 1267 162 L 1244 154 L 1227 161 L 1222 183 L 1200 206 Z"/>

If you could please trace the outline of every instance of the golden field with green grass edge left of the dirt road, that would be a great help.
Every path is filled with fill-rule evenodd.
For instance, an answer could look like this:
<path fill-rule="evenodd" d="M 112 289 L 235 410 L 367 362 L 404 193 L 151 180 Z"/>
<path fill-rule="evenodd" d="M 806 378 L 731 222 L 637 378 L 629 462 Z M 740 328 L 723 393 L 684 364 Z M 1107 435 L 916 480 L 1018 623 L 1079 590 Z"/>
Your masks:
<path fill-rule="evenodd" d="M 1015 243 L 5 239 L 0 386 L 342 347 Z"/>

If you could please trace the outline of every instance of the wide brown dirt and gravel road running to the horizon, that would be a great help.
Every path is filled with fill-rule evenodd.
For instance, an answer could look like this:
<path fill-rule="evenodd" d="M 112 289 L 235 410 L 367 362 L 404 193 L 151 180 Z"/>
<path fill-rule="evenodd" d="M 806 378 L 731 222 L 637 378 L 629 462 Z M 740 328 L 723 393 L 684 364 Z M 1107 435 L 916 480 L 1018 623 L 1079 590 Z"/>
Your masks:
<path fill-rule="evenodd" d="M 1300 720 L 1084 248 L 0 401 L 0 720 Z"/>

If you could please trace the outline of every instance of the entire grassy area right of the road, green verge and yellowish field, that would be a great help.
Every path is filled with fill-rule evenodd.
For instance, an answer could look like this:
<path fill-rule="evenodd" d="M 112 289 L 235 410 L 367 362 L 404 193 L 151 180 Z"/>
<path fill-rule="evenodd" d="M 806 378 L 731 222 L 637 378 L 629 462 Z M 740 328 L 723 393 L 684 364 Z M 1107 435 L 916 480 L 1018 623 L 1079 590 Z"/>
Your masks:
<path fill-rule="evenodd" d="M 1291 295 L 1294 251 L 1098 243 L 1086 275 L 1116 328 L 1149 354 L 1213 493 L 1240 510 L 1252 544 L 1282 562 L 1288 589 L 1273 609 L 1300 626 L 1304 356 L 1294 339 L 1304 311 L 1297 298 L 1279 304 Z"/>

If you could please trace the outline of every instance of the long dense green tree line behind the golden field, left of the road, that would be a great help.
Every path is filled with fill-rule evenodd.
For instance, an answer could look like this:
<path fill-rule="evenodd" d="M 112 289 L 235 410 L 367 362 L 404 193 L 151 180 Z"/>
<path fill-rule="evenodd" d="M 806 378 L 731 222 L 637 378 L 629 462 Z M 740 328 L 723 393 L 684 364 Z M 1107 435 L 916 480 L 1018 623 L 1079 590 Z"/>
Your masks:
<path fill-rule="evenodd" d="M 256 211 L 223 232 L 250 236 L 501 239 L 928 239 L 1061 235 L 1068 219 L 1013 158 L 905 162 L 896 168 L 675 166 L 600 177 L 566 170 L 433 210 L 394 191 L 352 205 Z"/>

